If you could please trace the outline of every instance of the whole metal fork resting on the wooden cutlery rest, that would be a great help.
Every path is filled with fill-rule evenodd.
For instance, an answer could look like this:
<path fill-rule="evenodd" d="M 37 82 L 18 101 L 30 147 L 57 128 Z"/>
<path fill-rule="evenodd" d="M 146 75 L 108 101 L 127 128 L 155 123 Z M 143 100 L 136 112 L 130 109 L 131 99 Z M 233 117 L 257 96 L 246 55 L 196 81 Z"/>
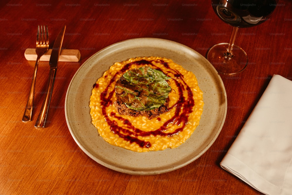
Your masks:
<path fill-rule="evenodd" d="M 33 104 L 34 104 L 34 89 L 35 89 L 35 84 L 36 84 L 36 72 L 39 65 L 39 60 L 41 56 L 43 56 L 48 51 L 48 48 L 49 48 L 48 26 L 46 25 L 46 29 L 45 29 L 45 26 L 44 27 L 41 26 L 41 29 L 40 29 L 40 26 L 38 25 L 37 36 L 36 36 L 37 58 L 36 58 L 36 63 L 34 65 L 34 75 L 32 77 L 32 85 L 30 87 L 29 96 L 28 96 L 26 107 L 25 107 L 25 112 L 22 117 L 23 122 L 32 120 L 32 110 L 33 110 Z"/>

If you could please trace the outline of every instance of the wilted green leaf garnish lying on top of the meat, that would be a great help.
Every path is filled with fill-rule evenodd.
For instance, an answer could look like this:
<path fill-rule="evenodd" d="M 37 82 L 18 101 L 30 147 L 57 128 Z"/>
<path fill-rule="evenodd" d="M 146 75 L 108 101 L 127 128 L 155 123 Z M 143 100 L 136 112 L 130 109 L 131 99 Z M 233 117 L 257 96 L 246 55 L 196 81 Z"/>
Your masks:
<path fill-rule="evenodd" d="M 125 105 L 133 110 L 148 111 L 159 108 L 171 91 L 166 81 L 171 77 L 150 67 L 134 68 L 124 73 L 123 77 L 126 81 L 122 85 L 116 84 L 116 93 L 118 91 L 117 95 L 123 97 L 126 100 Z"/>

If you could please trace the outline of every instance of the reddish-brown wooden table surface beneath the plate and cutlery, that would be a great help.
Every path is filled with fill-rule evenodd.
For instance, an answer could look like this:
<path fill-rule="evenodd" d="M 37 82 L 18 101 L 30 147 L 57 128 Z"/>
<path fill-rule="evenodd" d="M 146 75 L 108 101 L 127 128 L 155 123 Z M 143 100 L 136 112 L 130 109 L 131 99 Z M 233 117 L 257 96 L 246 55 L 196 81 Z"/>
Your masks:
<path fill-rule="evenodd" d="M 204 1 L 205 2 L 205 1 Z M 292 80 L 292 4 L 280 0 L 269 21 L 239 29 L 235 44 L 249 57 L 242 73 L 220 75 L 227 92 L 227 117 L 211 148 L 172 172 L 137 176 L 108 169 L 77 146 L 65 120 L 66 90 L 74 73 L 100 49 L 126 39 L 155 37 L 193 48 L 228 42 L 232 27 L 203 1 L 5 1 L 0 3 L 0 194 L 260 194 L 219 163 L 263 94 L 273 74 Z M 33 121 L 21 121 L 31 85 L 36 27 L 47 24 L 50 46 L 67 25 L 62 47 L 79 49 L 79 62 L 59 62 L 44 129 L 34 127 L 44 98 L 48 62 L 36 80 Z"/>

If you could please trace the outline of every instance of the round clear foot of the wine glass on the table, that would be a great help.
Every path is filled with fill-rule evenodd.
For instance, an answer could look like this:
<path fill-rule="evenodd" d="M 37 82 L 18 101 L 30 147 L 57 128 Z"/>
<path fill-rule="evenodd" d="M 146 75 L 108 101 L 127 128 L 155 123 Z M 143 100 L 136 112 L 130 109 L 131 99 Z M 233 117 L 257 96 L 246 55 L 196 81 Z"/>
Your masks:
<path fill-rule="evenodd" d="M 219 43 L 212 46 L 208 50 L 206 58 L 218 73 L 235 75 L 246 68 L 248 59 L 245 51 L 236 45 L 233 45 L 233 56 L 231 58 L 227 57 L 224 52 L 226 52 L 228 45 L 228 43 Z"/>

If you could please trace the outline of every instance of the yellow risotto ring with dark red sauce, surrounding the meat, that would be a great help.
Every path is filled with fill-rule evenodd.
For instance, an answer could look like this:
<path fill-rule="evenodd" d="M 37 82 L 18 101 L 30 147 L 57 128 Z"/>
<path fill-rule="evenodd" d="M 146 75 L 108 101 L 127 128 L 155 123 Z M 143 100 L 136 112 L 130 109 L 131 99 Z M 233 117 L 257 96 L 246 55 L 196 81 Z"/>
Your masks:
<path fill-rule="evenodd" d="M 115 84 L 128 70 L 150 67 L 171 77 L 168 110 L 154 118 L 117 112 Z M 195 75 L 171 59 L 138 57 L 117 62 L 95 83 L 90 97 L 92 124 L 109 144 L 136 152 L 158 151 L 183 144 L 199 125 L 203 92 Z"/>

